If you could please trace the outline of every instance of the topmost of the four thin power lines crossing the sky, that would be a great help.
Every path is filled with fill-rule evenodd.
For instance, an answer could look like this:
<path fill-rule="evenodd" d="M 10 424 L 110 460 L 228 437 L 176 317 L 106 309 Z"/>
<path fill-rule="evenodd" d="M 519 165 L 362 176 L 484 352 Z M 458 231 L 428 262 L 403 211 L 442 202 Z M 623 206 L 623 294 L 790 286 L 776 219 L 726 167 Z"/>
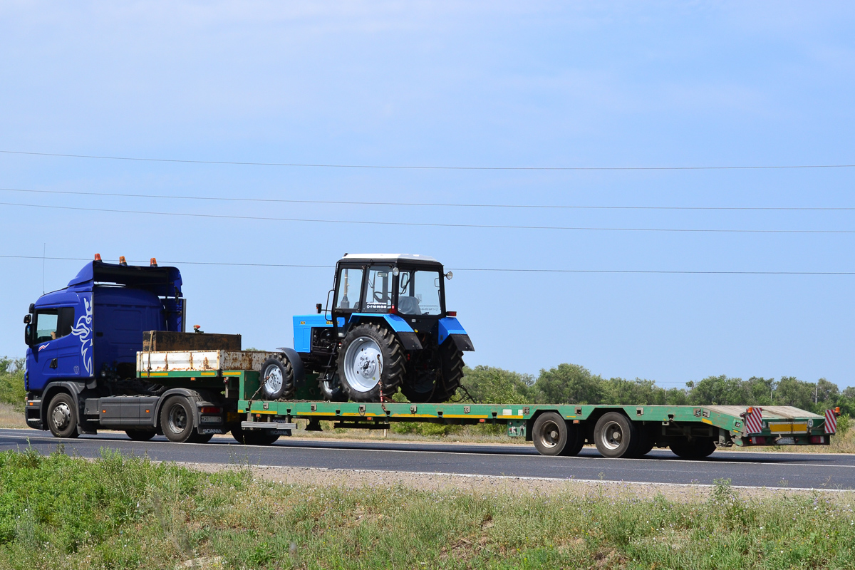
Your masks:
<path fill-rule="evenodd" d="M 782 168 L 852 168 L 855 164 L 793 164 L 755 166 L 697 166 L 697 167 L 451 167 L 413 166 L 380 164 L 325 164 L 315 162 L 240 162 L 240 161 L 194 161 L 178 158 L 142 158 L 138 156 L 69 155 L 57 152 L 27 152 L 24 150 L 0 150 L 7 155 L 60 156 L 63 158 L 91 158 L 109 161 L 137 162 L 180 162 L 186 164 L 224 164 L 255 167 L 309 167 L 309 168 L 379 168 L 393 170 L 772 170 Z"/>

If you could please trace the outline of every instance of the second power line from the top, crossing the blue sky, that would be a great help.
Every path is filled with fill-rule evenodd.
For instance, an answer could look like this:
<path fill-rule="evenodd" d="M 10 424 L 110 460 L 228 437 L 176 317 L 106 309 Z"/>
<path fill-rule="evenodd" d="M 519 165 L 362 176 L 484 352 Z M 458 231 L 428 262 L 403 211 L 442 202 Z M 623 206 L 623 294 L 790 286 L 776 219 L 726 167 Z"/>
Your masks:
<path fill-rule="evenodd" d="M 778 207 L 778 206 L 578 206 L 560 204 L 475 204 L 475 203 L 429 203 L 429 202 L 349 202 L 344 200 L 296 200 L 287 198 L 239 198 L 213 196 L 163 196 L 162 194 L 126 194 L 121 192 L 85 192 L 67 190 L 32 190 L 26 188 L 0 188 L 0 191 L 26 192 L 35 194 L 68 194 L 73 196 L 157 198 L 170 200 L 201 200 L 210 202 L 253 202 L 253 203 L 299 203 L 346 206 L 418 206 L 438 208 L 508 208 L 508 209 L 628 209 L 628 210 L 782 210 L 782 211 L 849 211 L 855 207 Z"/>

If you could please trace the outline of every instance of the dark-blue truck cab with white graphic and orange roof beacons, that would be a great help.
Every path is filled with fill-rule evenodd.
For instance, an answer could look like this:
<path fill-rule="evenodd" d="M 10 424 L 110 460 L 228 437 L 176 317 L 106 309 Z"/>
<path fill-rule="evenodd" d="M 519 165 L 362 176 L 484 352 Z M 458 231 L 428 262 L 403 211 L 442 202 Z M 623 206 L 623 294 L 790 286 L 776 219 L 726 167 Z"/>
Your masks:
<path fill-rule="evenodd" d="M 144 386 L 135 370 L 143 332 L 183 332 L 185 314 L 176 267 L 157 267 L 154 259 L 150 267 L 123 259 L 104 263 L 100 256 L 86 263 L 68 286 L 39 297 L 24 317 L 27 425 L 46 429 L 48 404 L 60 393 L 72 402 L 139 393 Z M 74 411 L 66 408 L 58 418 Z"/>

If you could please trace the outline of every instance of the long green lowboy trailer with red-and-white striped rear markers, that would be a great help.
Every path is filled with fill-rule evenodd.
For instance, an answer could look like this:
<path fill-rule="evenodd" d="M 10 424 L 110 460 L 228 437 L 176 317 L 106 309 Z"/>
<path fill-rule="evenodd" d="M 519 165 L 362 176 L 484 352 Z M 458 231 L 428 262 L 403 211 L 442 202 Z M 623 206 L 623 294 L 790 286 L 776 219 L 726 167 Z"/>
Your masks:
<path fill-rule="evenodd" d="M 198 385 L 201 392 L 221 391 L 222 402 L 230 405 L 219 410 L 207 406 L 210 413 L 198 414 L 197 429 L 231 431 L 239 441 L 253 444 L 290 436 L 296 420 L 305 420 L 310 431 L 320 431 L 321 421 L 333 422 L 334 428 L 369 430 L 405 421 L 506 426 L 508 436 L 533 442 L 542 455 L 576 455 L 585 444 L 594 444 L 605 457 L 639 457 L 654 447 L 668 447 L 682 457 L 704 457 L 719 447 L 828 445 L 839 412 L 819 415 L 789 406 L 328 402 L 311 387 L 312 379 L 306 379 L 290 399 L 268 400 L 260 396 L 258 370 L 211 368 L 215 361 L 255 363 L 262 356 L 268 355 L 219 354 L 208 359 L 204 370 L 152 372 L 151 367 L 141 367 L 139 378 L 163 385 Z M 172 361 L 179 359 L 174 356 Z M 207 397 L 208 402 L 212 399 Z M 160 429 L 169 436 L 168 426 Z"/>

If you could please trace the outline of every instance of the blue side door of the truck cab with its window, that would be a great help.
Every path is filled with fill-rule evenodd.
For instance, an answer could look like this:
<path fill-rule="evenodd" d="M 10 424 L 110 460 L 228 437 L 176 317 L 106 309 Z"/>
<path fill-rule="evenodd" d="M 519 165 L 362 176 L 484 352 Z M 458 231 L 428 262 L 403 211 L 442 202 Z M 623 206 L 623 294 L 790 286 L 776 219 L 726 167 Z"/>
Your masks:
<path fill-rule="evenodd" d="M 72 334 L 74 307 L 39 307 L 32 316 L 30 389 L 41 390 L 52 379 L 88 376 L 80 373 L 80 340 Z"/>

